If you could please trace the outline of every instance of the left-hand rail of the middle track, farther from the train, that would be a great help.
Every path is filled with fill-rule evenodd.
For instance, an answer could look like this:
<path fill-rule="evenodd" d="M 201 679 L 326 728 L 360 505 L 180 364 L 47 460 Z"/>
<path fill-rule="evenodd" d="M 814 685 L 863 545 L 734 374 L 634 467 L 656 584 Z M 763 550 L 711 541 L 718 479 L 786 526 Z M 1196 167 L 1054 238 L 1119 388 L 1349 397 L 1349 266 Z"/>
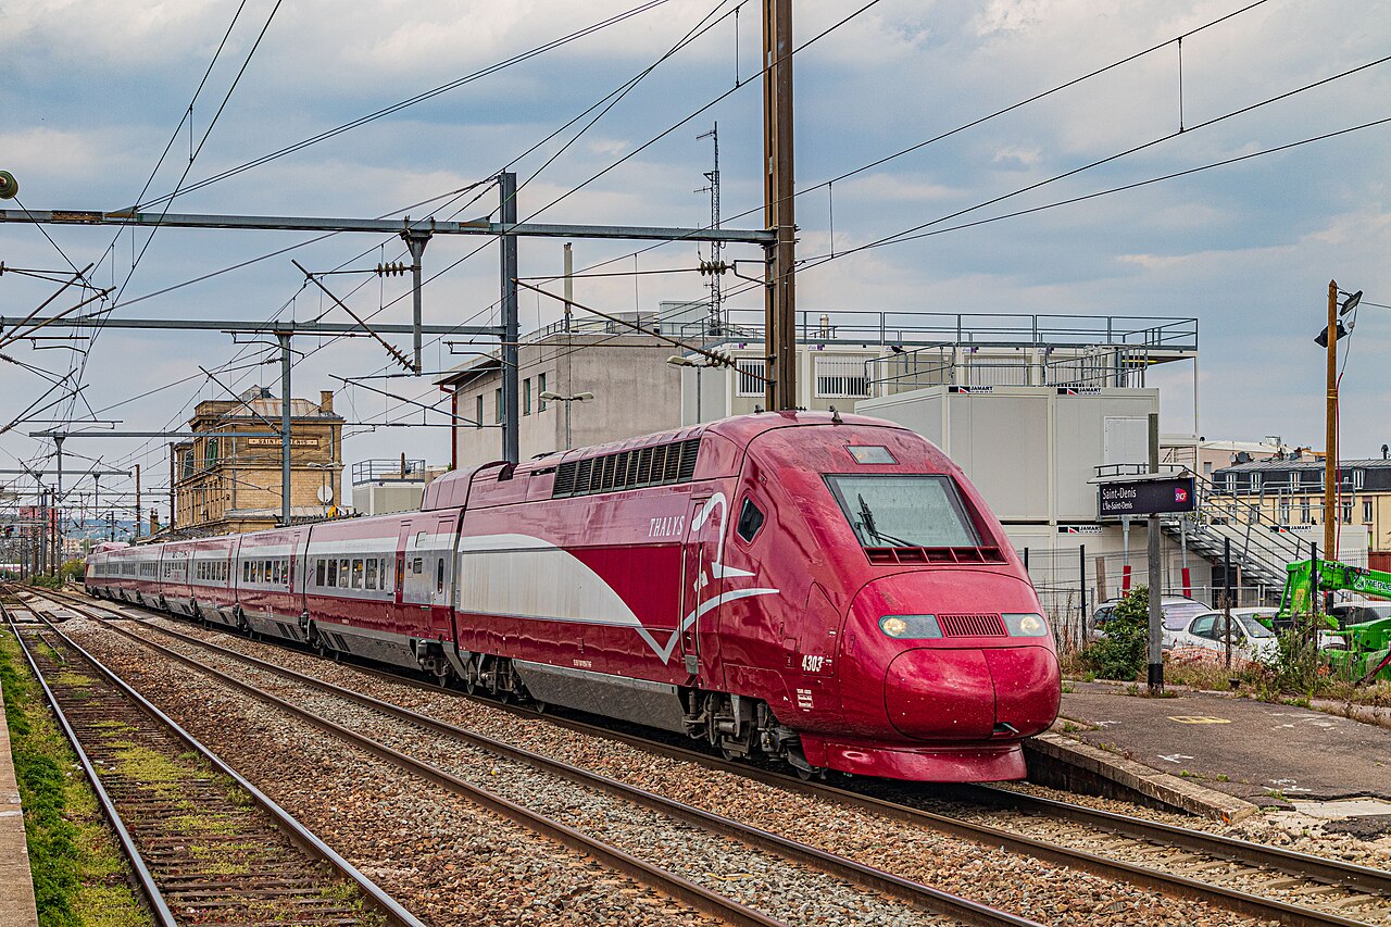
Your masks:
<path fill-rule="evenodd" d="M 456 795 L 462 795 L 463 798 L 474 802 L 476 805 L 481 805 L 483 807 L 497 814 L 501 814 L 502 817 L 506 817 L 512 821 L 516 821 L 542 837 L 547 837 L 573 850 L 591 856 L 604 863 L 605 866 L 608 866 L 609 869 L 623 873 L 638 882 L 654 887 L 658 891 L 664 892 L 665 895 L 682 901 L 705 914 L 711 914 L 729 924 L 736 924 L 740 927 L 787 927 L 783 921 L 768 917 L 761 912 L 757 912 L 730 898 L 725 898 L 716 892 L 712 892 L 705 887 L 691 882 L 690 880 L 686 880 L 680 876 L 658 869 L 657 866 L 640 860 L 636 856 L 632 856 L 615 846 L 611 846 L 608 843 L 604 843 L 602 841 L 581 834 L 580 831 L 576 831 L 574 828 L 568 827 L 566 824 L 552 821 L 551 818 L 547 818 L 536 811 L 531 811 L 530 809 L 509 802 L 508 799 L 499 795 L 495 795 L 480 786 L 472 785 L 470 782 L 466 782 L 458 778 L 456 775 L 452 775 L 435 766 L 409 757 L 401 753 L 399 750 L 395 750 L 387 746 L 385 743 L 381 743 L 380 740 L 376 740 L 373 738 L 357 734 L 356 731 L 345 728 L 339 724 L 335 724 L 334 721 L 330 721 L 328 718 L 314 714 L 307 708 L 302 708 L 291 702 L 287 702 L 274 695 L 270 695 L 268 692 L 257 689 L 256 686 L 248 682 L 242 682 L 241 679 L 227 675 L 218 670 L 213 670 L 211 667 L 200 664 L 199 661 L 185 657 L 184 654 L 170 650 L 168 647 L 161 647 L 160 644 L 152 640 L 147 640 L 139 635 L 125 631 L 124 628 L 113 625 L 108 619 L 100 618 L 93 612 L 85 610 L 83 607 L 71 604 L 67 604 L 67 607 L 71 608 L 72 611 L 77 611 L 78 614 L 86 612 L 85 617 L 102 622 L 111 631 L 115 631 L 117 633 L 131 640 L 135 640 L 139 644 L 156 653 L 161 653 L 170 657 L 171 660 L 175 660 L 177 663 L 198 670 L 199 672 L 204 672 L 227 683 L 228 686 L 252 696 L 253 699 L 271 704 L 299 718 L 300 721 L 305 721 L 319 728 L 320 731 L 330 734 L 331 736 L 335 736 L 341 740 L 346 740 L 352 746 L 366 753 L 370 753 L 371 756 L 376 756 L 380 760 L 391 763 L 412 775 L 417 775 L 430 782 L 434 782 L 435 785 L 440 785 L 441 788 L 453 792 Z M 1031 921 L 1022 921 L 1022 923 L 1031 923 Z"/>

